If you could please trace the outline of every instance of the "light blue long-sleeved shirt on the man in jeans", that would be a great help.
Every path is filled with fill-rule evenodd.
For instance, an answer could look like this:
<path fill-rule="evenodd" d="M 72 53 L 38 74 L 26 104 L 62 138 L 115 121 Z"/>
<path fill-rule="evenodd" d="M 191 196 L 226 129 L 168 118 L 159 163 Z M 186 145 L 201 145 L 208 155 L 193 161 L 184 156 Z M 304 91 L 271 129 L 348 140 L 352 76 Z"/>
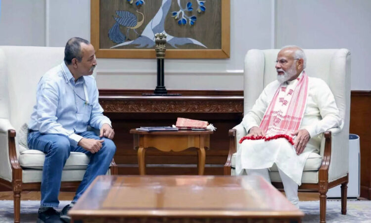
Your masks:
<path fill-rule="evenodd" d="M 82 76 L 75 82 L 64 62 L 40 79 L 36 105 L 28 128 L 43 134 L 62 134 L 72 146 L 83 138 L 78 135 L 90 125 L 100 129 L 111 121 L 102 114 L 98 103 L 98 89 L 93 76 Z"/>

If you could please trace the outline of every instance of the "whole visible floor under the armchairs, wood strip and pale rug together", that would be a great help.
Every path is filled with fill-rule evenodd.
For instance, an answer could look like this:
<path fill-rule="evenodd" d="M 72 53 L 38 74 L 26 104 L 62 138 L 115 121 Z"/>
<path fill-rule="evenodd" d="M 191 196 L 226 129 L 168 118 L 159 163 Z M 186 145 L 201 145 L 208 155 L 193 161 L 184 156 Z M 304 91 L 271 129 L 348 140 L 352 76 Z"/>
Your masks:
<path fill-rule="evenodd" d="M 60 192 L 60 208 L 64 207 L 73 198 L 74 192 Z M 13 193 L 12 191 L 0 192 L 0 222 L 13 222 Z M 40 206 L 40 192 L 22 192 L 21 194 L 22 222 L 32 223 L 37 218 Z M 305 213 L 303 223 L 318 223 L 320 219 L 320 203 L 318 193 L 299 192 L 300 209 Z M 328 223 L 371 223 L 371 201 L 364 199 L 348 199 L 347 215 L 341 215 L 340 199 L 328 199 L 326 202 L 326 220 Z"/>

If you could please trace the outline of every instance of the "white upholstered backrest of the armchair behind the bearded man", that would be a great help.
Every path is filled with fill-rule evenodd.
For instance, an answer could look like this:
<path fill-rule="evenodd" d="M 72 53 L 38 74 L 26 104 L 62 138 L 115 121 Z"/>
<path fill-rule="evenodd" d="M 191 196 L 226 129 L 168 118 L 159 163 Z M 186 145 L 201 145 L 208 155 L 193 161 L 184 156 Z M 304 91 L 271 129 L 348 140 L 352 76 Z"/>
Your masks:
<path fill-rule="evenodd" d="M 347 166 L 350 115 L 350 52 L 348 49 L 303 49 L 307 57 L 305 71 L 309 77 L 324 80 L 335 96 L 340 116 L 343 118 L 342 153 L 331 153 L 335 159 Z M 279 49 L 251 49 L 244 62 L 244 111 L 252 108 L 264 87 L 276 80 L 276 60 Z M 338 156 L 338 157 L 337 157 Z M 332 170 L 330 169 L 330 172 Z"/>

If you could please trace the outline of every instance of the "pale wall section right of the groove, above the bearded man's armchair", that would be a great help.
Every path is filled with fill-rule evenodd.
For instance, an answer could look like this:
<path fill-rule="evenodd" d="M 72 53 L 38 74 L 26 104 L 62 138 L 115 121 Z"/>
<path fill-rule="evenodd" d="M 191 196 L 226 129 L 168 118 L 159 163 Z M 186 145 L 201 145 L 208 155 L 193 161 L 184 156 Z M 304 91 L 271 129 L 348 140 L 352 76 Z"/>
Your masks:
<path fill-rule="evenodd" d="M 348 48 L 351 88 L 371 89 L 371 0 L 278 0 L 277 11 L 277 47 Z"/>

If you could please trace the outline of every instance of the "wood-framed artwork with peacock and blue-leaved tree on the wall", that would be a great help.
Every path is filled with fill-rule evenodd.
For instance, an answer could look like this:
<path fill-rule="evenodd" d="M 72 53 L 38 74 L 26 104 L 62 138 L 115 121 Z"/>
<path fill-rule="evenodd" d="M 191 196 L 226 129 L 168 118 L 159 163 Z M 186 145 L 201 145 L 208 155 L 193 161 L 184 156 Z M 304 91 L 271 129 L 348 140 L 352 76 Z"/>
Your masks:
<path fill-rule="evenodd" d="M 91 0 L 91 43 L 98 58 L 229 58 L 230 0 Z"/>

